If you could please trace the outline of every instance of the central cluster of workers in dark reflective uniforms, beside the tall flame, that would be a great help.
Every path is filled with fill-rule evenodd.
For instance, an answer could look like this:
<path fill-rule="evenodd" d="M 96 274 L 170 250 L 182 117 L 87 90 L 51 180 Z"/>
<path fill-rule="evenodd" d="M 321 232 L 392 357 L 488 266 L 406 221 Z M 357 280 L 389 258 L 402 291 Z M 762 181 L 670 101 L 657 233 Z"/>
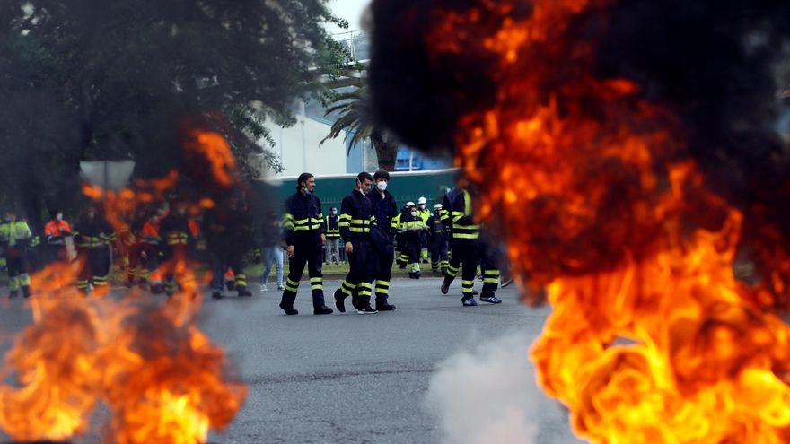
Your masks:
<path fill-rule="evenodd" d="M 408 202 L 399 210 L 387 191 L 389 182 L 390 174 L 384 170 L 376 171 L 373 176 L 359 173 L 354 189 L 343 198 L 339 215 L 332 208 L 332 214 L 325 219 L 320 198 L 314 193 L 313 175 L 305 172 L 297 178 L 296 192 L 285 202 L 283 239 L 290 268 L 279 304 L 285 314 L 298 314 L 294 301 L 305 266 L 310 278 L 313 313 L 333 313 L 324 299 L 321 273 L 323 260 L 334 257 L 334 253 L 328 252 L 326 257 L 322 254 L 322 247 L 330 239 L 343 239 L 350 265 L 346 278 L 333 294 L 335 307 L 341 313 L 346 311 L 349 297 L 359 314 L 395 310 L 389 296 L 396 244 L 401 252 L 399 260 L 409 266 L 409 277 L 420 277 L 420 260 L 430 249 L 432 269 L 444 275 L 441 292 L 449 292 L 450 284 L 462 269 L 461 304 L 477 305 L 474 279 L 480 266 L 483 288 L 479 299 L 493 304 L 501 302 L 495 294 L 500 279 L 495 249 L 480 238 L 481 226 L 475 222 L 472 199 L 463 178 L 457 179 L 456 187 L 444 196 L 443 204 L 434 205 L 434 213 L 425 218 L 420 214 L 426 213 L 423 199 L 418 201 L 419 206 Z M 338 236 L 329 238 L 330 232 Z"/>

